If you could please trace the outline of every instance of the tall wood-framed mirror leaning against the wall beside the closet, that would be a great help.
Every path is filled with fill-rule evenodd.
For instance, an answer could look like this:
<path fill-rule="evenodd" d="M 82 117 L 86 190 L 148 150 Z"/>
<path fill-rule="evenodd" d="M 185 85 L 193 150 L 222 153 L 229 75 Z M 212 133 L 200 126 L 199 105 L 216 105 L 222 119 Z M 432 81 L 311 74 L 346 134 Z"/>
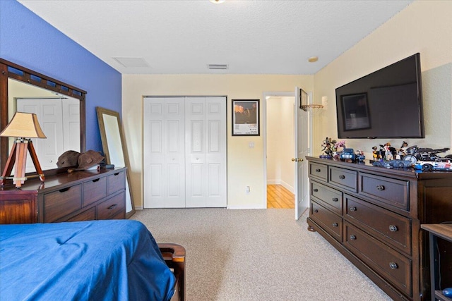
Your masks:
<path fill-rule="evenodd" d="M 126 140 L 121 130 L 121 118 L 117 111 L 96 107 L 97 120 L 99 121 L 100 137 L 102 139 L 102 149 L 105 154 L 107 164 L 114 164 L 114 167 L 127 167 L 126 170 L 126 217 L 130 218 L 135 213 L 132 192 L 130 189 L 129 155 L 126 147 Z"/>

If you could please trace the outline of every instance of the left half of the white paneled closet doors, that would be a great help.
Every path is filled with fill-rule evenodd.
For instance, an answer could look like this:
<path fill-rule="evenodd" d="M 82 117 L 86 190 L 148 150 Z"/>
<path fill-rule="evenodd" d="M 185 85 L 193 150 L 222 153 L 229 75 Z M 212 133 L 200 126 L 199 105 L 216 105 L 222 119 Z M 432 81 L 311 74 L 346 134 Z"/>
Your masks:
<path fill-rule="evenodd" d="M 143 204 L 185 207 L 184 98 L 143 101 Z"/>

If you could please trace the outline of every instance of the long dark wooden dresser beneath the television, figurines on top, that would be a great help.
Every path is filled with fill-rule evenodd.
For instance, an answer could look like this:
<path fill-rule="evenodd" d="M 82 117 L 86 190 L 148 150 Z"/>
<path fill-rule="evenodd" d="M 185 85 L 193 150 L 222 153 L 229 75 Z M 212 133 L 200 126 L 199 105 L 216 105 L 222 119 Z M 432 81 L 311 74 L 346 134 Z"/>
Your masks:
<path fill-rule="evenodd" d="M 309 230 L 318 231 L 393 300 L 430 300 L 422 223 L 452 221 L 452 172 L 415 172 L 307 157 Z M 445 269 L 452 245 L 439 246 Z M 442 281 L 451 283 L 444 271 Z"/>

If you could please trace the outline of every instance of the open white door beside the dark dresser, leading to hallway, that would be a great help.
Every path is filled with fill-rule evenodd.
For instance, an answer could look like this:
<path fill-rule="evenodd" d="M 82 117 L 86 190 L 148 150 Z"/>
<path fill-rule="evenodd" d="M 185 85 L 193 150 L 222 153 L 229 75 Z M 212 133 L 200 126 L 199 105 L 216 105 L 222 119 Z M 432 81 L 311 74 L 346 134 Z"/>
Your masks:
<path fill-rule="evenodd" d="M 297 164 L 295 168 L 295 219 L 299 219 L 303 212 L 309 207 L 309 197 L 307 194 L 307 160 L 309 154 L 309 118 L 308 112 L 299 109 L 302 98 L 306 98 L 307 93 L 299 87 L 295 88 L 295 157 L 292 159 Z"/>

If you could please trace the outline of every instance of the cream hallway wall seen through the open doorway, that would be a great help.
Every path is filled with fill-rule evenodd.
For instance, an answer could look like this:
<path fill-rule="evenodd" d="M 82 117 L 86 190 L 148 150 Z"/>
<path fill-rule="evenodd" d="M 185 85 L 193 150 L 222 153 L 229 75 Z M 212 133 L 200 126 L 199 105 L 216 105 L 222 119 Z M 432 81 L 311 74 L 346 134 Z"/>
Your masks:
<path fill-rule="evenodd" d="M 267 99 L 267 183 L 283 185 L 294 192 L 294 99 Z"/>

